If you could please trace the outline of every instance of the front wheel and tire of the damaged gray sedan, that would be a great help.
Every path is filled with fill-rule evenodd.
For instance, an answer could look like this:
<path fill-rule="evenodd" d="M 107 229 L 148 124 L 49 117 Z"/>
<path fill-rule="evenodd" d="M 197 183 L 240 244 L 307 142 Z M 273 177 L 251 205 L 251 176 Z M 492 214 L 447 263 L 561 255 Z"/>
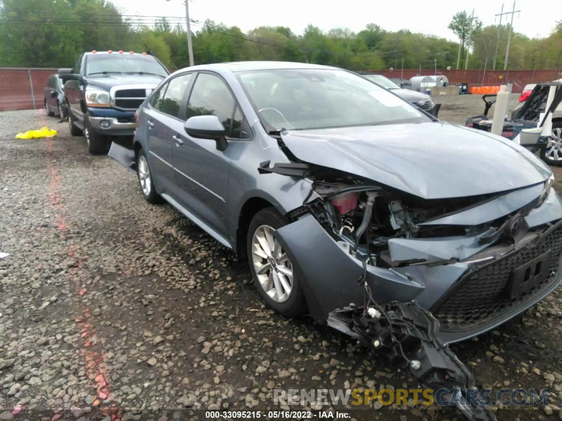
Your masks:
<path fill-rule="evenodd" d="M 273 237 L 287 223 L 273 207 L 257 212 L 248 228 L 247 254 L 261 297 L 276 312 L 294 317 L 306 312 L 305 296 L 291 260 Z"/>

